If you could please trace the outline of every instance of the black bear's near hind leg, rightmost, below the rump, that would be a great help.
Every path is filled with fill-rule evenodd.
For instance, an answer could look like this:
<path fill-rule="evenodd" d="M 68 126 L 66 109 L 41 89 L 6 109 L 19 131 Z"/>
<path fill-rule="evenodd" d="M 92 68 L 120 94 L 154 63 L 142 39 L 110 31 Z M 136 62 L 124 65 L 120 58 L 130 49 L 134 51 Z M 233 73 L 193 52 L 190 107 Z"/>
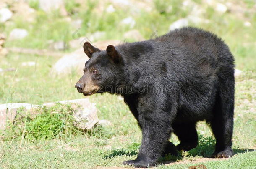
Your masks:
<path fill-rule="evenodd" d="M 232 73 L 232 72 L 231 72 Z M 228 73 L 226 73 L 228 75 Z M 234 75 L 231 79 L 223 78 L 220 91 L 217 94 L 214 116 L 209 124 L 216 139 L 215 158 L 228 158 L 234 155 L 232 146 L 233 116 L 234 116 Z M 222 78 L 221 78 L 222 79 Z"/>

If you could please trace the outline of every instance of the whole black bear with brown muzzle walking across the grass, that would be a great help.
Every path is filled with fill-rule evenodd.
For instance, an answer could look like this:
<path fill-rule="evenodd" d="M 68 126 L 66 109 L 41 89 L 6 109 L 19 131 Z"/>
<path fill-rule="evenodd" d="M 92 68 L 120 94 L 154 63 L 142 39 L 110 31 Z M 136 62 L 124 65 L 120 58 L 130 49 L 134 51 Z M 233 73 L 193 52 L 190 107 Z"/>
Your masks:
<path fill-rule="evenodd" d="M 234 154 L 234 58 L 216 35 L 185 27 L 106 50 L 86 42 L 84 52 L 90 59 L 78 92 L 123 96 L 141 128 L 138 157 L 123 164 L 148 167 L 162 154 L 193 149 L 196 123 L 204 120 L 216 139 L 213 157 Z M 180 140 L 177 147 L 168 141 L 171 133 Z"/>

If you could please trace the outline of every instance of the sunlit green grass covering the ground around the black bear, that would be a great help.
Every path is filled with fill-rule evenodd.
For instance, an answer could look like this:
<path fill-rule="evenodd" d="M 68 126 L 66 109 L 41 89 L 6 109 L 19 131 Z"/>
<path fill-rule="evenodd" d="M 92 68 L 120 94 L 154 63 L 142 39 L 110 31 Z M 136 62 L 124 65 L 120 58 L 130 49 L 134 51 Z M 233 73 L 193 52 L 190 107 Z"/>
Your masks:
<path fill-rule="evenodd" d="M 236 78 L 235 84 L 235 126 L 233 148 L 236 155 L 221 161 L 199 161 L 209 157 L 214 150 L 214 138 L 204 122 L 199 122 L 199 146 L 188 152 L 180 152 L 179 156 L 166 156 L 162 161 L 178 161 L 178 164 L 158 165 L 159 169 L 187 169 L 189 166 L 204 164 L 207 169 L 256 168 L 256 14 L 238 18 L 234 13 L 219 14 L 212 7 L 205 6 L 201 0 L 195 3 L 206 9 L 203 16 L 209 23 L 190 23 L 192 26 L 204 28 L 216 33 L 230 46 L 235 57 L 236 68 L 243 73 Z M 244 5 L 251 9 L 251 1 L 244 0 Z M 165 5 L 166 4 L 166 5 Z M 29 35 L 23 40 L 7 39 L 5 46 L 24 48 L 47 48 L 49 40 L 73 39 L 73 33 L 87 36 L 96 31 L 105 31 L 101 40 L 125 40 L 123 34 L 137 29 L 144 38 L 152 34 L 162 35 L 168 31 L 170 24 L 190 15 L 191 7 L 182 8 L 182 2 L 175 0 L 154 0 L 153 10 L 134 12 L 131 8 L 115 8 L 114 13 L 105 10 L 99 12 L 99 5 L 109 3 L 88 0 L 78 4 L 75 0 L 66 1 L 65 8 L 71 19 L 82 19 L 81 29 L 73 28 L 72 23 L 61 16 L 58 11 L 46 14 L 39 9 L 37 0 L 29 0 L 31 8 L 36 9 L 33 23 L 13 18 L 11 24 L 0 24 L 0 30 L 9 34 L 13 28 L 25 28 Z M 172 10 L 167 8 L 172 5 Z M 127 10 L 126 13 L 123 9 Z M 120 21 L 128 16 L 136 21 L 134 28 L 120 25 Z M 244 21 L 250 27 L 243 25 Z M 132 39 L 131 39 L 132 40 Z M 72 49 L 67 50 L 69 52 Z M 81 49 L 82 50 L 82 49 Z M 67 76 L 52 76 L 52 65 L 59 58 L 52 56 L 24 55 L 9 53 L 1 58 L 0 68 L 16 68 L 14 72 L 5 72 L 0 76 L 0 103 L 41 104 L 52 101 L 84 98 L 74 85 L 80 73 L 71 72 Z M 34 61 L 35 66 L 22 66 L 23 62 Z M 72 110 L 56 105 L 51 109 L 40 109 L 36 117 L 25 116 L 19 121 L 21 127 L 10 124 L 9 129 L 0 135 L 0 168 L 97 168 L 122 166 L 122 161 L 135 159 L 141 141 L 141 131 L 136 120 L 123 100 L 115 95 L 98 94 L 89 97 L 96 103 L 99 119 L 107 119 L 112 126 L 96 127 L 88 132 L 80 132 L 72 128 Z M 114 104 L 115 103 L 115 104 Z M 50 112 L 58 112 L 51 114 Z M 67 125 L 64 125 L 67 124 Z M 71 127 L 71 128 L 69 128 Z M 40 128 L 40 129 L 39 129 Z M 45 132 L 42 132 L 45 131 Z M 178 138 L 170 139 L 178 144 Z M 168 162 L 166 162 L 168 163 Z"/>

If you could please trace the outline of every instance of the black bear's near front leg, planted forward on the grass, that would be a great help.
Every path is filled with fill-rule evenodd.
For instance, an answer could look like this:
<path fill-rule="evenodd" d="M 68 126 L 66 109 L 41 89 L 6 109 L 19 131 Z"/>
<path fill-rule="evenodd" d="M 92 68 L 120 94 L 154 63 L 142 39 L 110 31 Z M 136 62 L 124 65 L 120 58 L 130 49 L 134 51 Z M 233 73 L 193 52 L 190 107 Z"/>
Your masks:
<path fill-rule="evenodd" d="M 154 111 L 152 111 L 154 110 Z M 142 142 L 135 160 L 123 162 L 134 167 L 150 167 L 157 164 L 165 151 L 165 146 L 172 132 L 172 111 L 165 112 L 155 108 L 139 112 L 138 123 L 142 130 Z"/>

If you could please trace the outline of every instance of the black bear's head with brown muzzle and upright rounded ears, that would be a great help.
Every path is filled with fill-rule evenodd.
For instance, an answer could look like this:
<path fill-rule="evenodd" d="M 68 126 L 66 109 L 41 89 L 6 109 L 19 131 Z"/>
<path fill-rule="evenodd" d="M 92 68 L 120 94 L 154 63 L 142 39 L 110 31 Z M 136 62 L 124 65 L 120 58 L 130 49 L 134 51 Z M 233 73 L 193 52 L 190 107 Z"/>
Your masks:
<path fill-rule="evenodd" d="M 84 75 L 76 83 L 76 89 L 84 96 L 103 93 L 115 88 L 124 70 L 123 60 L 113 45 L 99 50 L 89 42 L 84 43 L 84 52 L 90 58 L 84 66 Z"/>

